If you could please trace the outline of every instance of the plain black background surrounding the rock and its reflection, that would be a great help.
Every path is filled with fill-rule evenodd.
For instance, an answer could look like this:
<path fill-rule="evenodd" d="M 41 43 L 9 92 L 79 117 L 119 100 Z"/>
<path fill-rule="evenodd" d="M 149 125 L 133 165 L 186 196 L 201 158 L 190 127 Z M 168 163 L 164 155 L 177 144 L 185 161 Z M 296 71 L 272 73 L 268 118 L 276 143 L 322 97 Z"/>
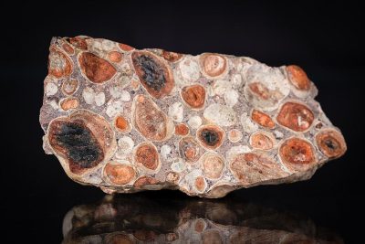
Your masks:
<path fill-rule="evenodd" d="M 317 85 L 317 100 L 328 118 L 344 134 L 347 154 L 326 164 L 309 181 L 242 189 L 227 197 L 303 213 L 345 242 L 361 242 L 365 42 L 360 5 L 349 1 L 117 3 L 1 4 L 0 213 L 5 243 L 59 243 L 68 209 L 104 196 L 97 188 L 68 179 L 57 158 L 42 149 L 38 114 L 49 42 L 53 36 L 78 35 L 135 48 L 194 55 L 210 51 L 249 56 L 270 66 L 301 66 Z M 171 191 L 146 195 L 186 197 Z"/>

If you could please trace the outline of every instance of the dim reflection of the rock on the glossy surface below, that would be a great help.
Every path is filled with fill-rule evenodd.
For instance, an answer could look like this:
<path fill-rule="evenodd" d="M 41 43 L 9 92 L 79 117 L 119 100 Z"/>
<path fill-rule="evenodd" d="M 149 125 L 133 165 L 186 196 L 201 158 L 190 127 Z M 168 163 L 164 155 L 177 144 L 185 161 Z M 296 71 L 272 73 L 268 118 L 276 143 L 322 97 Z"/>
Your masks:
<path fill-rule="evenodd" d="M 343 243 L 308 219 L 235 200 L 151 200 L 106 196 L 73 207 L 63 222 L 67 243 Z"/>

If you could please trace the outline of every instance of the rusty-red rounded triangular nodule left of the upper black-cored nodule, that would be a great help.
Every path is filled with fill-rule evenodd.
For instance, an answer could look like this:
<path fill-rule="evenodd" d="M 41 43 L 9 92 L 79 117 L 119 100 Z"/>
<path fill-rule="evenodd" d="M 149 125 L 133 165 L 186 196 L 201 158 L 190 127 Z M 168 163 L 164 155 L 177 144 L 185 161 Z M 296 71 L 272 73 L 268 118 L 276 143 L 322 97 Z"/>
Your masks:
<path fill-rule="evenodd" d="M 82 73 L 95 83 L 110 80 L 117 72 L 110 62 L 90 52 L 81 53 L 78 57 L 78 64 Z"/>

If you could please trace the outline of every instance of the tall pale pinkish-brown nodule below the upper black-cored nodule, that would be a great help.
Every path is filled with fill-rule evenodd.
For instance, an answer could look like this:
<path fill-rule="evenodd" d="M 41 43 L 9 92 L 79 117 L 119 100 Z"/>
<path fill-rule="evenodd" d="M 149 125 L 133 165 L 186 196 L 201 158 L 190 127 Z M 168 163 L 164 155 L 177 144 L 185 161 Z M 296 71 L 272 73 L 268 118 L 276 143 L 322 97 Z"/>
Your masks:
<path fill-rule="evenodd" d="M 135 128 L 149 140 L 164 140 L 168 136 L 166 115 L 151 99 L 143 95 L 137 96 L 134 102 L 135 110 L 133 118 Z"/>

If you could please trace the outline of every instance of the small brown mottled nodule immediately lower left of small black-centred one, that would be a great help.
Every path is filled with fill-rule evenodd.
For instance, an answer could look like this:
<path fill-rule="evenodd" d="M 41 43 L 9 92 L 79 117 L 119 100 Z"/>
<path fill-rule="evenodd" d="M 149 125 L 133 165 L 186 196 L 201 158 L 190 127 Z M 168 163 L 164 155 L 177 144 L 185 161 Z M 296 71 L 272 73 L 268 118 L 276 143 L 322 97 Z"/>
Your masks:
<path fill-rule="evenodd" d="M 193 136 L 187 136 L 180 140 L 179 152 L 187 162 L 196 162 L 202 155 L 203 149 L 195 141 Z"/>

